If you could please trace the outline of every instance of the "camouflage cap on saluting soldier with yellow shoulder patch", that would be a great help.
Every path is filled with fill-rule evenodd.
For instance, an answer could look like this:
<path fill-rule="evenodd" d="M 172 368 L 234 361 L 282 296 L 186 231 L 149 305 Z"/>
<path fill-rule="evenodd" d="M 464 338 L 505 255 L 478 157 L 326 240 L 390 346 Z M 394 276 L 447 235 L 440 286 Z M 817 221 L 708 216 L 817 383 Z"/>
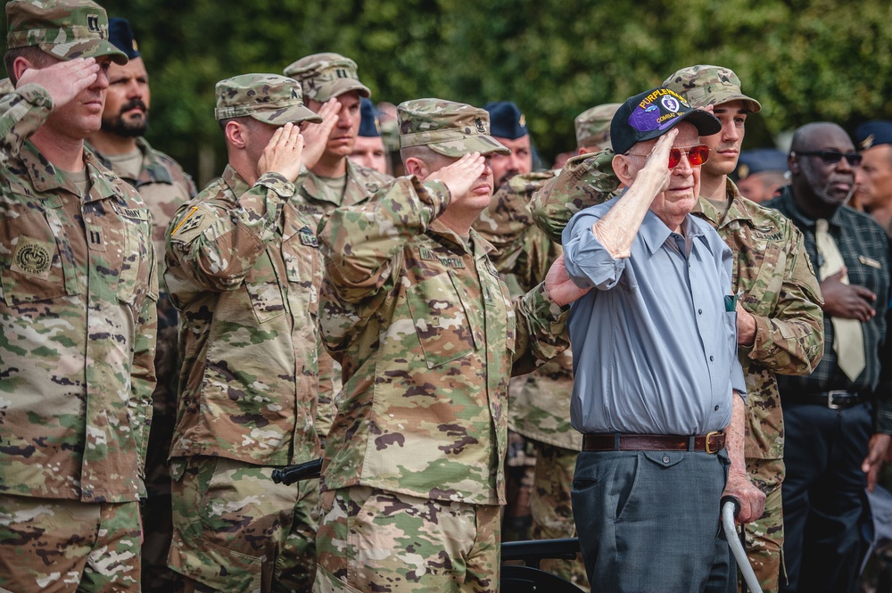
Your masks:
<path fill-rule="evenodd" d="M 322 121 L 316 113 L 303 106 L 301 86 L 293 78 L 278 74 L 241 74 L 220 80 L 216 87 L 217 119 L 253 119 L 284 126 L 288 122 Z"/>

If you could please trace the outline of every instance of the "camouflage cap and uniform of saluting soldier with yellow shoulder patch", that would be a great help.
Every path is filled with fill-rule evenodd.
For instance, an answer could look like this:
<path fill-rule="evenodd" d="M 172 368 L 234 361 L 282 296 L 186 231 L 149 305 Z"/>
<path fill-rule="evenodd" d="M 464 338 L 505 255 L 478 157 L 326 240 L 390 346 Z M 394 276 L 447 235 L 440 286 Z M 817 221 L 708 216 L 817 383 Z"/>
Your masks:
<path fill-rule="evenodd" d="M 217 85 L 218 119 L 319 120 L 277 75 Z M 314 427 L 315 224 L 278 173 L 249 186 L 231 166 L 167 232 L 166 279 L 180 312 L 183 370 L 170 446 L 169 565 L 199 590 L 309 590 L 316 487 L 277 486 L 273 467 L 319 455 Z"/>

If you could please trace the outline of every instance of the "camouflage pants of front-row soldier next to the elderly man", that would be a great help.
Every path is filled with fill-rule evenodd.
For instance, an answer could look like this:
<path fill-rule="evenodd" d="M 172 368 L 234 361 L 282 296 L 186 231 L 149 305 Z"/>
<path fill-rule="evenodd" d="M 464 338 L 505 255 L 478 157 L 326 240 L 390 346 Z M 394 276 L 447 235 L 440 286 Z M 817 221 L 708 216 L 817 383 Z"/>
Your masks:
<path fill-rule="evenodd" d="M 353 486 L 322 497 L 313 590 L 499 589 L 500 507 Z"/>

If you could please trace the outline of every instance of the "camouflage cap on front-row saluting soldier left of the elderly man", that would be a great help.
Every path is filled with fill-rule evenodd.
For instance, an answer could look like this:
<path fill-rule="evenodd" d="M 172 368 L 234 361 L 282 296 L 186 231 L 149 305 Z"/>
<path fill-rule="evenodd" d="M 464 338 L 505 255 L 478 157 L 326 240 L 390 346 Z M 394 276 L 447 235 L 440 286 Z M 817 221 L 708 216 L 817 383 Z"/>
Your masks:
<path fill-rule="evenodd" d="M 427 146 L 449 157 L 470 152 L 510 154 L 490 136 L 490 114 L 466 103 L 443 99 L 415 99 L 396 108 L 400 148 Z"/>

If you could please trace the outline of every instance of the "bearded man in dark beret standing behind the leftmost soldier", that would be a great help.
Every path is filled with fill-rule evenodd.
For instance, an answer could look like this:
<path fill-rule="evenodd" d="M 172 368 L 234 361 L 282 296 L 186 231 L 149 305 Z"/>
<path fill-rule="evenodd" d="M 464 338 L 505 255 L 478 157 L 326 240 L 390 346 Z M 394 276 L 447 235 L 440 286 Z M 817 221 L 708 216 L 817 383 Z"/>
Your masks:
<path fill-rule="evenodd" d="M 164 288 L 162 254 L 164 229 L 178 206 L 194 197 L 195 186 L 177 161 L 154 150 L 143 137 L 149 123 L 149 75 L 126 19 L 109 20 L 109 41 L 127 54 L 129 62 L 123 66 L 111 64 L 102 128 L 88 142 L 105 166 L 136 187 L 153 217 L 152 239 L 161 294 L 155 351 L 158 383 L 152 394 L 154 412 L 145 462 L 148 498 L 143 507 L 143 590 L 166 591 L 174 579 L 167 567 L 172 532 L 167 457 L 177 419 L 178 356 L 177 309 L 170 305 Z"/>

